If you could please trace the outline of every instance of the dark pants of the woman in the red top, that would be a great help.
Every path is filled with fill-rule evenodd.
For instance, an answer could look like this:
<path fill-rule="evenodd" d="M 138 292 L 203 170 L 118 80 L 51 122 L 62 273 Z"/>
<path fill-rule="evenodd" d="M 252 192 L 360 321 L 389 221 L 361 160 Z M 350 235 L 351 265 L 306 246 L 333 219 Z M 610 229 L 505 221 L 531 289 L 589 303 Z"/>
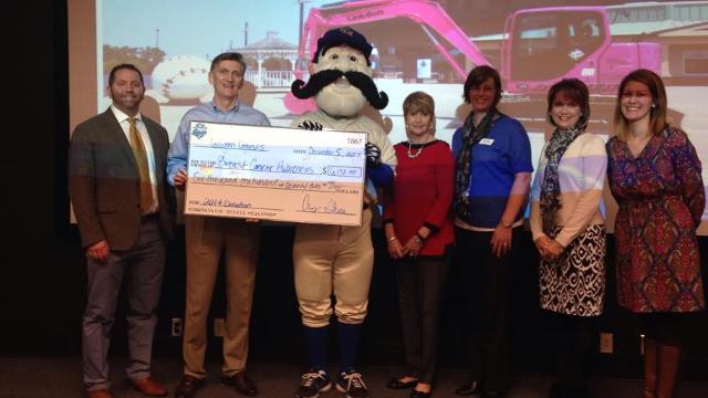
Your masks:
<path fill-rule="evenodd" d="M 408 375 L 433 383 L 438 348 L 440 296 L 447 276 L 442 256 L 396 261 L 398 305 Z"/>

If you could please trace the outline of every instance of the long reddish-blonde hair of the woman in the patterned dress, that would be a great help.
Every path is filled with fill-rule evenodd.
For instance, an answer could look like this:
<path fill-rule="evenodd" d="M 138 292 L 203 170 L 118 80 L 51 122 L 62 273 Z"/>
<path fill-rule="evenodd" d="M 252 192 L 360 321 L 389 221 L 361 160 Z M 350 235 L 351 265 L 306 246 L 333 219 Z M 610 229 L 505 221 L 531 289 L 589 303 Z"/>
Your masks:
<path fill-rule="evenodd" d="M 649 129 L 652 134 L 658 135 L 662 134 L 664 128 L 666 128 L 666 114 L 667 114 L 667 100 L 666 100 L 666 88 L 664 87 L 664 82 L 662 77 L 656 73 L 639 69 L 634 72 L 631 72 L 628 75 L 624 76 L 622 83 L 620 83 L 620 90 L 617 91 L 617 103 L 615 104 L 615 115 L 614 115 L 614 128 L 615 135 L 620 140 L 626 140 L 627 135 L 629 134 L 629 124 L 627 119 L 622 114 L 622 93 L 624 92 L 625 86 L 629 82 L 642 83 L 649 88 L 649 93 L 652 93 L 652 111 L 650 119 L 649 119 Z"/>

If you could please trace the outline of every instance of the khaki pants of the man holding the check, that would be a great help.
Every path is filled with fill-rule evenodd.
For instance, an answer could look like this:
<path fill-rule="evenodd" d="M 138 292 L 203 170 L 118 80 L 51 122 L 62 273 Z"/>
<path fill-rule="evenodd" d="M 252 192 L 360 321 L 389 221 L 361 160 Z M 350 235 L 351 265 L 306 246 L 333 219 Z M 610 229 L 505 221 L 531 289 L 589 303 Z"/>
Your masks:
<path fill-rule="evenodd" d="M 246 368 L 248 328 L 253 303 L 260 224 L 241 219 L 185 217 L 187 298 L 183 358 L 185 375 L 205 378 L 207 317 L 217 280 L 219 258 L 226 248 L 226 327 L 222 375 Z"/>

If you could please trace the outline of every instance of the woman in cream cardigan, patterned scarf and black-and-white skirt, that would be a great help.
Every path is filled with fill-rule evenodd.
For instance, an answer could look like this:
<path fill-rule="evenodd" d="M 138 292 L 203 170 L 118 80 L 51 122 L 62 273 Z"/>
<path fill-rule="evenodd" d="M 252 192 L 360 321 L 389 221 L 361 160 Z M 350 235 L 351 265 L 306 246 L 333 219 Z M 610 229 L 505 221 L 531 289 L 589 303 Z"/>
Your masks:
<path fill-rule="evenodd" d="M 555 83 L 548 95 L 555 127 L 531 187 L 531 232 L 539 253 L 541 307 L 550 312 L 558 356 L 550 398 L 586 396 L 584 363 L 593 323 L 603 312 L 605 227 L 600 212 L 607 157 L 604 142 L 585 132 L 587 86 Z"/>

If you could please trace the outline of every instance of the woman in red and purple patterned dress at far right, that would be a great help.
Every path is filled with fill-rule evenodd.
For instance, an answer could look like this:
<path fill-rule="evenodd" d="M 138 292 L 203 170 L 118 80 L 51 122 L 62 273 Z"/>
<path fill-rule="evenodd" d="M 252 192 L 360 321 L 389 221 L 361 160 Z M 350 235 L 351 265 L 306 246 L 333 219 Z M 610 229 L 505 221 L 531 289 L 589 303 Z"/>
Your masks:
<path fill-rule="evenodd" d="M 637 70 L 620 85 L 607 177 L 615 222 L 617 300 L 639 314 L 646 398 L 674 391 L 683 322 L 702 311 L 696 228 L 706 197 L 700 160 L 686 133 L 666 121 L 666 91 Z"/>

